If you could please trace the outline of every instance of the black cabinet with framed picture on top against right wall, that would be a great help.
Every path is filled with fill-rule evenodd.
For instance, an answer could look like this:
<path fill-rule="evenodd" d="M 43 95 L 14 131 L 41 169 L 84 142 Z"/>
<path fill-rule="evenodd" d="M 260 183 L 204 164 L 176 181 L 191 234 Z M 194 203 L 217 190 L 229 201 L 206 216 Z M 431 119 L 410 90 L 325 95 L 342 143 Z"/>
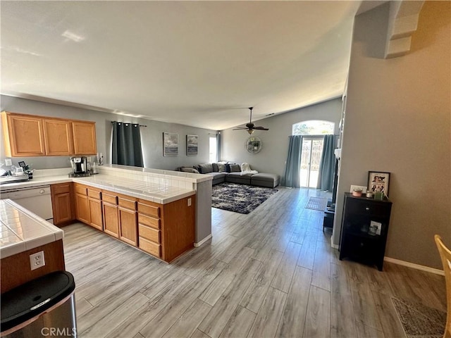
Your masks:
<path fill-rule="evenodd" d="M 340 237 L 340 261 L 350 258 L 382 271 L 392 202 L 354 197 L 345 192 Z"/>

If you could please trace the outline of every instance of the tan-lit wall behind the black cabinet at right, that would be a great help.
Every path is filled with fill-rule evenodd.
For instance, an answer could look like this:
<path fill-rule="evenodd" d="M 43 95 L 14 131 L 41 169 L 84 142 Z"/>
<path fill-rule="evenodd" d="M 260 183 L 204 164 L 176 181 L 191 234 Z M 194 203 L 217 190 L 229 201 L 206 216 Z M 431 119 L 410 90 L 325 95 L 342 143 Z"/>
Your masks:
<path fill-rule="evenodd" d="M 369 170 L 391 172 L 385 256 L 441 269 L 433 235 L 451 246 L 450 2 L 425 2 L 400 58 L 374 57 L 387 17 L 383 5 L 354 22 L 333 243 L 343 192 L 366 186 Z"/>

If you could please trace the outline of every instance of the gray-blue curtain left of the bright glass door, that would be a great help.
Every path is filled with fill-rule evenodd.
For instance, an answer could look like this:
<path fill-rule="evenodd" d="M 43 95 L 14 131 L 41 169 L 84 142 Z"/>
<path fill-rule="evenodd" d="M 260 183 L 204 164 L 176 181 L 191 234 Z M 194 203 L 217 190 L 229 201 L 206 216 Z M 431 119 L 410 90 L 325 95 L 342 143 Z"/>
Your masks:
<path fill-rule="evenodd" d="M 302 152 L 302 136 L 290 136 L 290 144 L 288 145 L 287 165 L 285 165 L 285 173 L 282 177 L 282 185 L 285 187 L 300 188 L 300 170 L 301 170 L 301 152 Z"/>

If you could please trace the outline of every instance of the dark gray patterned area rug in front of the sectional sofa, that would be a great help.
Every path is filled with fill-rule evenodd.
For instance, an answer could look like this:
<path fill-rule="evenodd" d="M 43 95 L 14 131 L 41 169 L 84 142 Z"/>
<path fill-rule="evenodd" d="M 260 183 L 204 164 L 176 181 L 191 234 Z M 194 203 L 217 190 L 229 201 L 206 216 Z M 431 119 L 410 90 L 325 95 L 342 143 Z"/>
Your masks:
<path fill-rule="evenodd" d="M 213 186 L 211 206 L 234 213 L 250 213 L 277 189 L 253 187 L 245 184 L 221 183 Z"/>

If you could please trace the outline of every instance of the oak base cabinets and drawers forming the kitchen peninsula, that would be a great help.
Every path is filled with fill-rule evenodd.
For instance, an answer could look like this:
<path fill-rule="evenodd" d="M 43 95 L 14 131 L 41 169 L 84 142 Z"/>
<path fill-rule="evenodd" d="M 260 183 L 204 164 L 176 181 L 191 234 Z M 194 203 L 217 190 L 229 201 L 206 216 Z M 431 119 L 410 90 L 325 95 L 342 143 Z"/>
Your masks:
<path fill-rule="evenodd" d="M 74 184 L 77 219 L 171 262 L 194 246 L 195 196 L 156 204 Z"/>

